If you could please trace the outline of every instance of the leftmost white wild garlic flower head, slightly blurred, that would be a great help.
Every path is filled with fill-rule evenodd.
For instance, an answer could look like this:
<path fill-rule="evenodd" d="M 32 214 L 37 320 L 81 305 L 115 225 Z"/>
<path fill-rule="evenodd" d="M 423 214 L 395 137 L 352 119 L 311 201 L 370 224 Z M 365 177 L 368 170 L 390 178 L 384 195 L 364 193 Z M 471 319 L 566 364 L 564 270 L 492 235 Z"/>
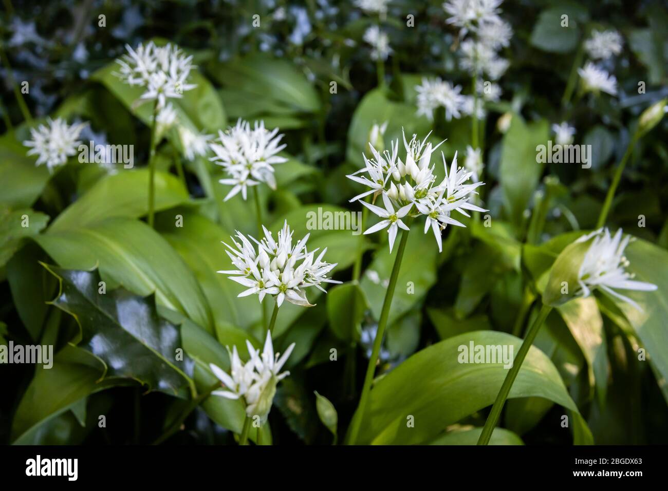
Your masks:
<path fill-rule="evenodd" d="M 46 164 L 49 172 L 52 172 L 54 167 L 65 164 L 67 157 L 77 153 L 81 144 L 77 138 L 86 125 L 87 122 L 68 125 L 61 118 L 47 118 L 47 124 L 31 128 L 31 140 L 23 142 L 24 146 L 31 147 L 27 155 L 37 155 L 35 165 Z"/>

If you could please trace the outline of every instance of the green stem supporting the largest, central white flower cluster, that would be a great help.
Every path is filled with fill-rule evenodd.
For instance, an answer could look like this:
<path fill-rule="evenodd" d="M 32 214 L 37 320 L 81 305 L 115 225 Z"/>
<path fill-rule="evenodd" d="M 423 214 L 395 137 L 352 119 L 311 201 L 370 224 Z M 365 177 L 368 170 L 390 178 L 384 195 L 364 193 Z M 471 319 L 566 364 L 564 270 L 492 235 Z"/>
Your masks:
<path fill-rule="evenodd" d="M 404 220 L 406 226 L 410 227 L 412 218 Z M 371 358 L 369 365 L 367 365 L 367 373 L 364 377 L 364 386 L 362 387 L 362 394 L 359 397 L 359 405 L 349 433 L 348 443 L 354 445 L 357 442 L 357 434 L 359 433 L 359 426 L 362 424 L 362 418 L 366 409 L 367 401 L 369 399 L 369 392 L 371 391 L 371 383 L 373 382 L 373 373 L 378 362 L 378 355 L 380 353 L 381 343 L 383 343 L 383 335 L 385 334 L 385 327 L 387 327 L 387 318 L 389 317 L 389 307 L 392 303 L 394 290 L 397 286 L 397 278 L 399 277 L 399 269 L 401 269 L 401 259 L 403 258 L 403 251 L 406 249 L 406 242 L 408 240 L 408 233 L 410 230 L 401 230 L 401 242 L 399 242 L 399 249 L 397 249 L 397 257 L 394 259 L 394 266 L 389 277 L 389 285 L 387 285 L 387 292 L 385 293 L 385 300 L 383 301 L 383 310 L 378 321 L 378 329 L 376 331 L 375 339 L 373 340 L 373 350 L 371 351 Z"/>

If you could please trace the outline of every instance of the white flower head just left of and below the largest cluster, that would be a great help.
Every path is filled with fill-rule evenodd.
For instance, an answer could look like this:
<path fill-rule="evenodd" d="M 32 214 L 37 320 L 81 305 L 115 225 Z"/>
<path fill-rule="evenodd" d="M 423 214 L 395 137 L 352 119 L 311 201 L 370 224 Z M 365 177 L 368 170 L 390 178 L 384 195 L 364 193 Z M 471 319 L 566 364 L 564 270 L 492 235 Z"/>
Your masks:
<path fill-rule="evenodd" d="M 239 293 L 238 297 L 258 295 L 262 303 L 265 295 L 274 295 L 279 307 L 287 299 L 290 303 L 302 307 L 313 307 L 306 298 L 305 289 L 321 287 L 322 283 L 341 283 L 329 278 L 328 273 L 337 265 L 323 261 L 327 248 L 315 257 L 318 249 L 309 252 L 306 242 L 309 234 L 299 240 L 293 247 L 293 232 L 287 224 L 279 231 L 278 240 L 274 240 L 271 232 L 263 226 L 265 237 L 261 241 L 251 237 L 257 244 L 257 251 L 251 241 L 241 232 L 236 232 L 237 240 L 232 238 L 236 247 L 222 242 L 227 247 L 225 251 L 232 261 L 236 270 L 218 271 L 230 275 L 232 281 L 236 281 L 247 289 Z M 298 264 L 299 263 L 299 264 Z"/>

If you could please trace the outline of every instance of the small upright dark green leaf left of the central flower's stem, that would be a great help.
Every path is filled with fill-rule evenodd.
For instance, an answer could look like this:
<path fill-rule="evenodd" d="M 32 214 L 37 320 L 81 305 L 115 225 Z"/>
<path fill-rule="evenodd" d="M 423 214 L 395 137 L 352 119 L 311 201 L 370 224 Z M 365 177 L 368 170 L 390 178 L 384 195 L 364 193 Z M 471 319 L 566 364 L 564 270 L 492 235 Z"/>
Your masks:
<path fill-rule="evenodd" d="M 332 332 L 343 341 L 359 341 L 360 325 L 369 301 L 358 283 L 336 285 L 327 293 L 327 319 Z"/>

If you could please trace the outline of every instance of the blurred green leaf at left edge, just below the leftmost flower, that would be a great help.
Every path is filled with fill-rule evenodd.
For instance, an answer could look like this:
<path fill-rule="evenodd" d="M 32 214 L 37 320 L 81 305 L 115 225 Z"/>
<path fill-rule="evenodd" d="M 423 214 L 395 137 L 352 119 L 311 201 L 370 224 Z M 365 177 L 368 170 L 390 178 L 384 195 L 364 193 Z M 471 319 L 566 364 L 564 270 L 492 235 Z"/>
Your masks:
<path fill-rule="evenodd" d="M 29 138 L 26 131 L 25 138 Z M 37 158 L 28 156 L 28 147 L 17 140 L 15 132 L 0 136 L 0 204 L 11 208 L 32 206 L 49 182 L 51 174 L 45 165 L 36 166 Z"/>

